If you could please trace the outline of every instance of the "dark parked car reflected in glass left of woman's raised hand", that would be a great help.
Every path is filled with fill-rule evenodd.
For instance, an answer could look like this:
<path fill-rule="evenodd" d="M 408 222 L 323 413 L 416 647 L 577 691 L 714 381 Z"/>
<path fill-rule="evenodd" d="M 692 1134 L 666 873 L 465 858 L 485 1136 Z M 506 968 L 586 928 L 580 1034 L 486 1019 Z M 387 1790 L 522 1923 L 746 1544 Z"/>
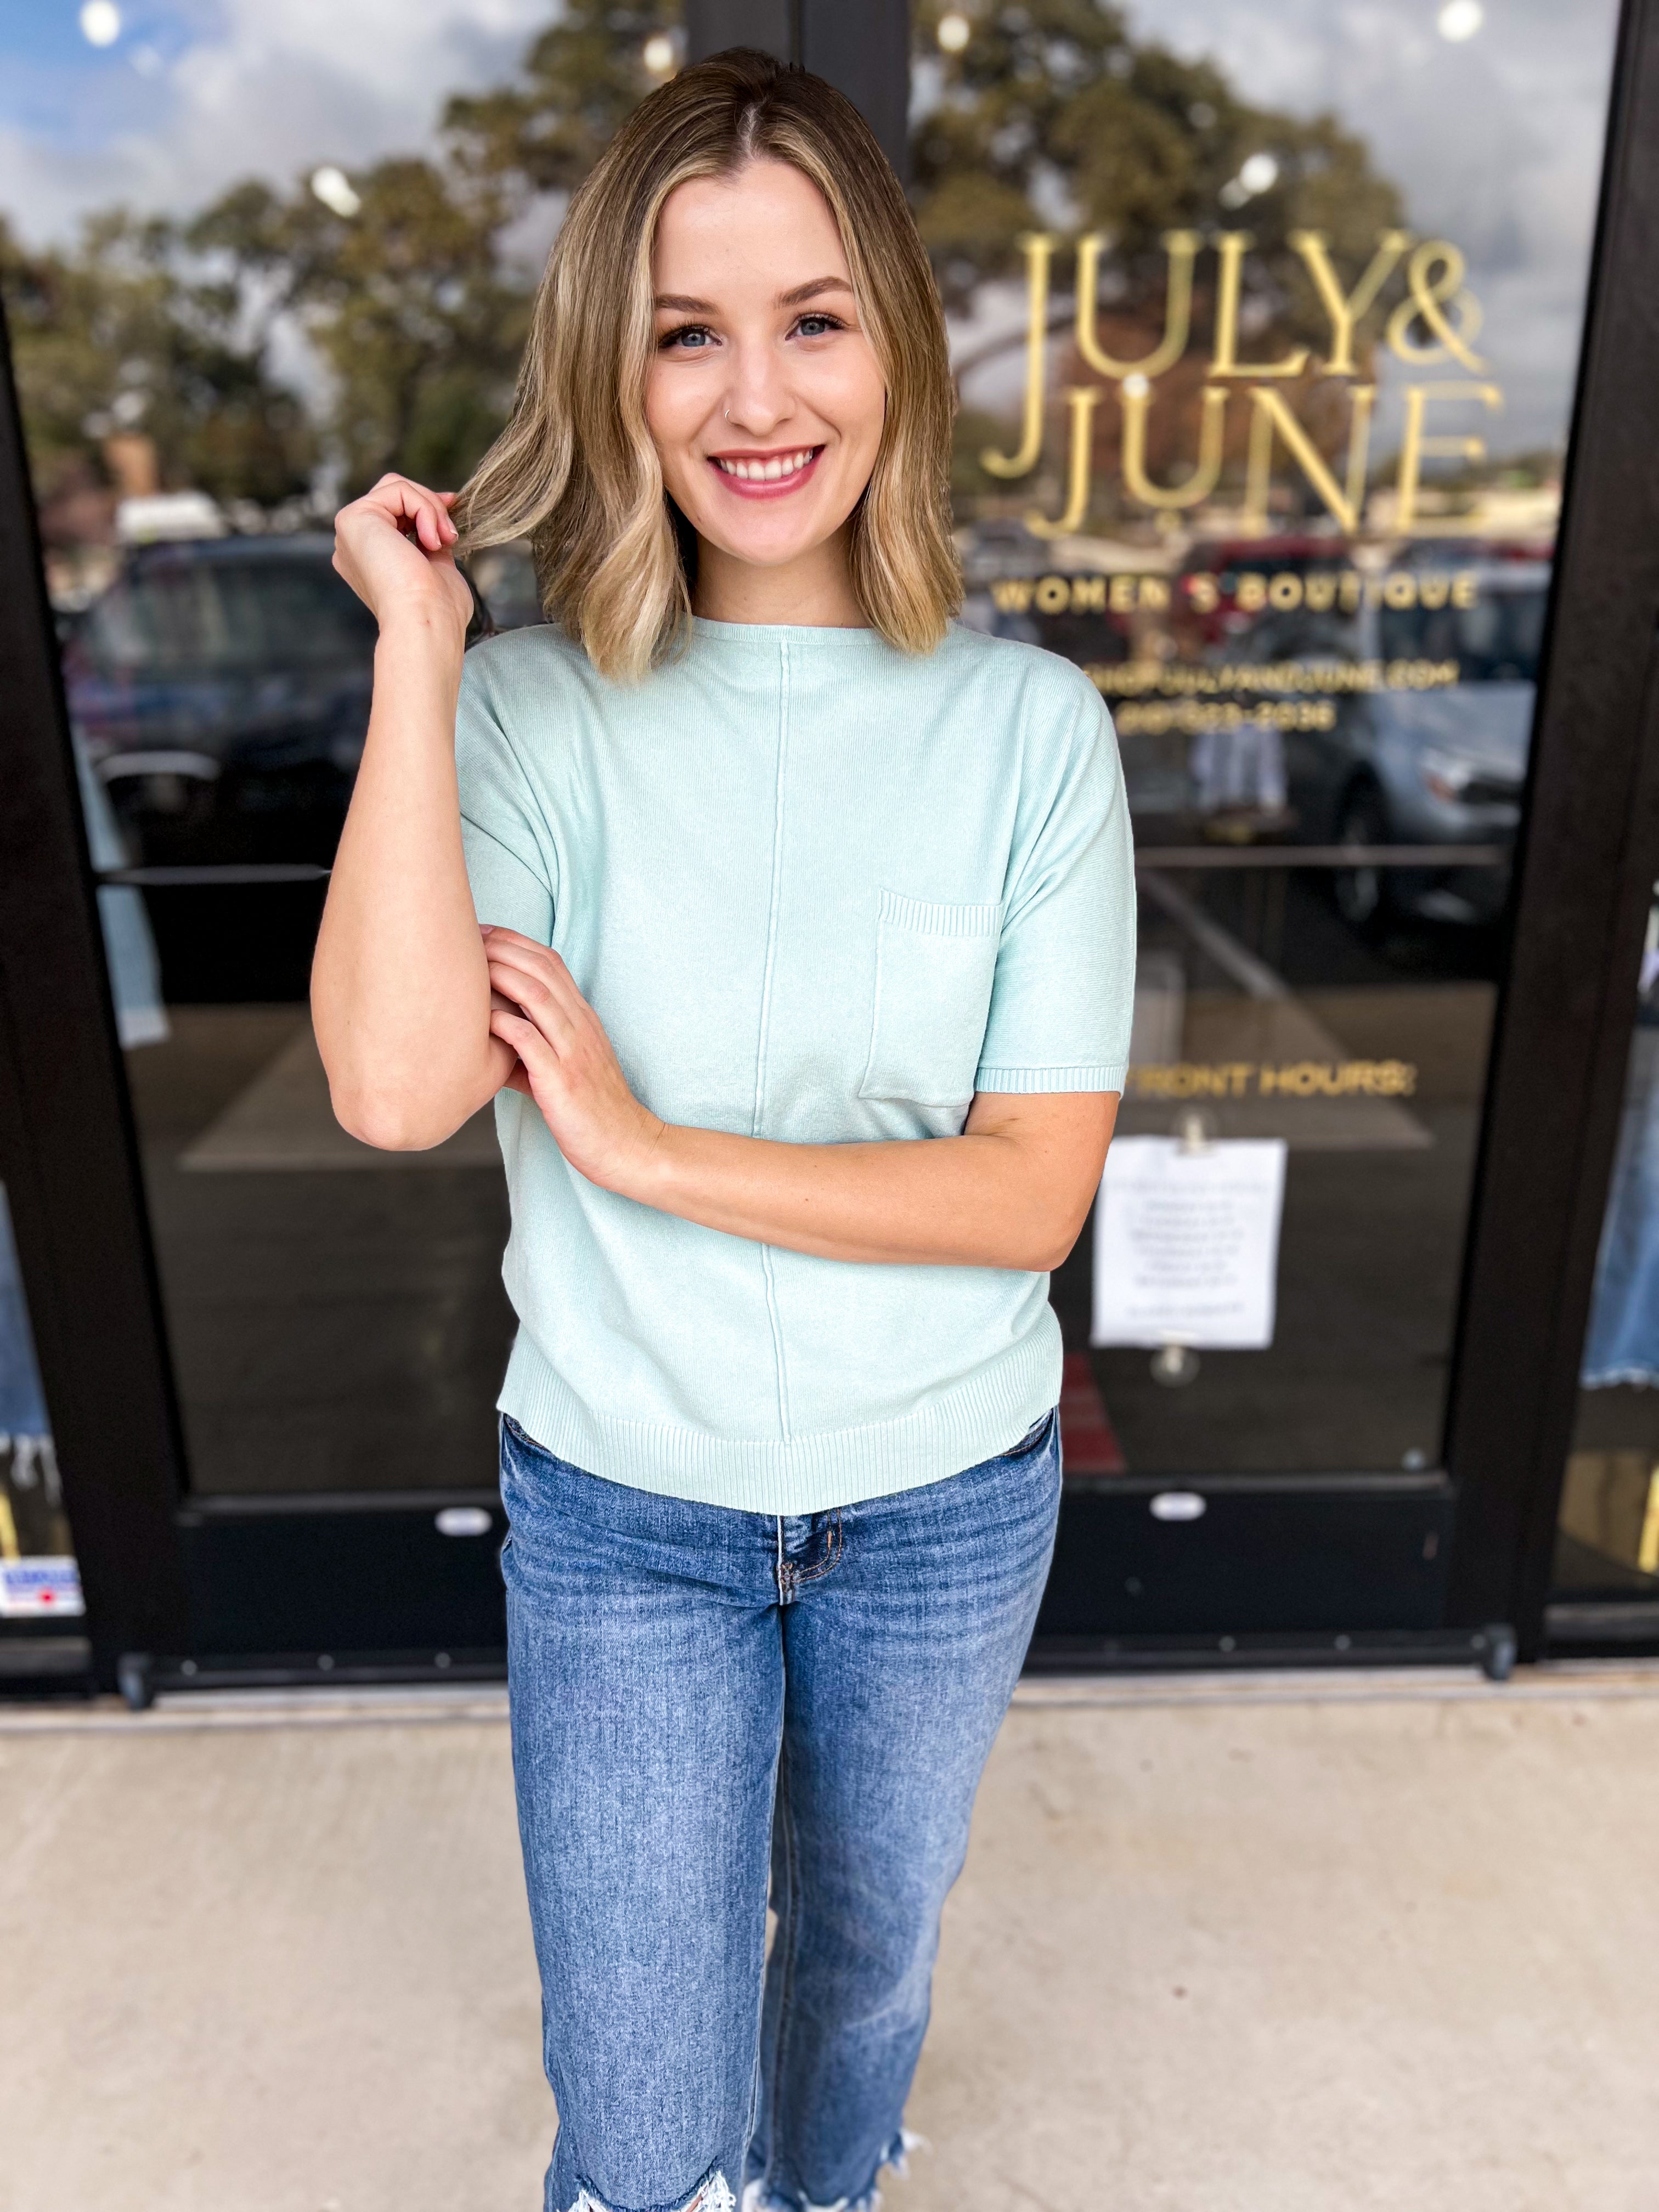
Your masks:
<path fill-rule="evenodd" d="M 332 553 L 323 535 L 142 546 L 75 624 L 69 710 L 133 860 L 334 856 L 376 628 Z M 504 588 L 498 624 L 515 617 Z"/>

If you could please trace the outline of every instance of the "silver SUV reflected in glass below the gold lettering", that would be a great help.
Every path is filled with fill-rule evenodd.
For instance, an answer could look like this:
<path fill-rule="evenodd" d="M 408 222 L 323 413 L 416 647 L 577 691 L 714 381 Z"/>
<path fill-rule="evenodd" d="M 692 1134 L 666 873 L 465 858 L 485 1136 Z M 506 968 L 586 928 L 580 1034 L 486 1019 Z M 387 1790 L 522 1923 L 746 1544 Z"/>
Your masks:
<path fill-rule="evenodd" d="M 1422 571 L 1427 580 L 1429 571 Z M 1267 615 L 1232 655 L 1252 661 L 1409 664 L 1413 681 L 1334 690 L 1336 723 L 1285 739 L 1290 803 L 1312 845 L 1511 845 L 1533 732 L 1548 564 L 1458 564 L 1438 606 Z M 1464 602 L 1464 604 L 1458 604 Z M 1444 672 L 1455 664 L 1455 681 Z M 1438 672 L 1438 675 L 1436 675 Z M 1491 920 L 1509 867 L 1352 867 L 1334 880 L 1354 927 L 1389 911 Z"/>

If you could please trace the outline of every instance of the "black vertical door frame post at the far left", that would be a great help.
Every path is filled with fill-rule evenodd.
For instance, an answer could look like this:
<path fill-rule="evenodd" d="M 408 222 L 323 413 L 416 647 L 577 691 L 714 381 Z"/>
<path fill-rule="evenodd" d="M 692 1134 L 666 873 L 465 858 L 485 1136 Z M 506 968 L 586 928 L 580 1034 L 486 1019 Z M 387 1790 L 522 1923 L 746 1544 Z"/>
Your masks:
<path fill-rule="evenodd" d="M 2 310 L 0 699 L 0 1183 L 108 1681 L 188 1637 L 184 1442 Z"/>

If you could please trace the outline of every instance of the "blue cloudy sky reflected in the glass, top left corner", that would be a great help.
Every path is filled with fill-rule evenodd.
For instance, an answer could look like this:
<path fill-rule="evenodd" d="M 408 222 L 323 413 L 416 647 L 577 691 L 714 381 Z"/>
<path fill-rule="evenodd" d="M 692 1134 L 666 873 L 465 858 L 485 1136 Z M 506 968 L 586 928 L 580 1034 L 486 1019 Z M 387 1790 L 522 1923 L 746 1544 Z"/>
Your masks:
<path fill-rule="evenodd" d="M 29 239 L 86 208 L 192 210 L 429 144 L 449 91 L 500 82 L 549 0 L 119 0 L 93 49 L 77 0 L 0 0 L 0 212 Z"/>

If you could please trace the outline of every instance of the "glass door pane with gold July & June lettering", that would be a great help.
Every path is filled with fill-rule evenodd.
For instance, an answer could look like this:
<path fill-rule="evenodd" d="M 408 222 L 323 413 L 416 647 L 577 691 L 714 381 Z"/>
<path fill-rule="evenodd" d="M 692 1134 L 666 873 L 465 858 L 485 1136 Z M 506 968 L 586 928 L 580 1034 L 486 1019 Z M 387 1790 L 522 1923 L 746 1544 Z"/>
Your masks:
<path fill-rule="evenodd" d="M 969 619 L 1141 867 L 1079 1471 L 1438 1467 L 1617 9 L 920 29 Z"/>

